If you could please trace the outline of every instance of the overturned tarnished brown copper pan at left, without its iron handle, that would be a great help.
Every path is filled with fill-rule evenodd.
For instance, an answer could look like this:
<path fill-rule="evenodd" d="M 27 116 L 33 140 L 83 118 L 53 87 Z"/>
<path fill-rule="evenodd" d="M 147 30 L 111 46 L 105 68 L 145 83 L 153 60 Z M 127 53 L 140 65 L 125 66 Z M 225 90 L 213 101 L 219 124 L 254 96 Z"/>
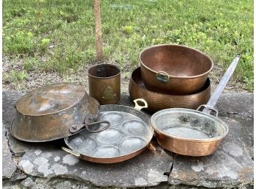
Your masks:
<path fill-rule="evenodd" d="M 72 135 L 71 126 L 98 115 L 99 102 L 82 85 L 57 83 L 32 90 L 17 101 L 11 132 L 29 142 L 56 140 Z"/>

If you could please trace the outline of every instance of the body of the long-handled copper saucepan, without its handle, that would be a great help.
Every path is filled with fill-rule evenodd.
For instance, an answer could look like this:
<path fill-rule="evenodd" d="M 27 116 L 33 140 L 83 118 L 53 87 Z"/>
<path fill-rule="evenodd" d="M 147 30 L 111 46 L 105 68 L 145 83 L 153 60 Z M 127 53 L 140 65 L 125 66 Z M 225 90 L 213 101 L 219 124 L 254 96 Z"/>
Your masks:
<path fill-rule="evenodd" d="M 195 122 L 195 124 L 190 126 L 189 124 L 191 123 L 185 123 L 184 126 L 182 126 L 180 123 L 182 122 L 180 120 L 181 118 L 187 119 L 185 120 L 187 122 Z M 210 129 L 215 129 L 214 132 L 218 132 L 218 134 L 209 138 L 196 138 L 196 136 L 195 138 L 185 138 L 184 136 L 181 137 L 174 135 L 174 133 L 166 132 L 165 129 L 161 128 L 163 123 L 160 123 L 160 120 L 168 123 L 170 128 L 171 124 L 175 123 L 172 128 L 182 128 L 184 129 L 181 130 L 183 133 L 192 133 L 193 129 L 196 129 L 196 132 L 202 132 L 202 130 L 205 130 L 204 132 L 209 134 L 211 131 Z M 188 156 L 206 156 L 213 154 L 229 131 L 227 124 L 215 116 L 183 108 L 166 109 L 155 113 L 152 115 L 151 125 L 154 128 L 157 142 L 163 147 L 163 149 Z"/>

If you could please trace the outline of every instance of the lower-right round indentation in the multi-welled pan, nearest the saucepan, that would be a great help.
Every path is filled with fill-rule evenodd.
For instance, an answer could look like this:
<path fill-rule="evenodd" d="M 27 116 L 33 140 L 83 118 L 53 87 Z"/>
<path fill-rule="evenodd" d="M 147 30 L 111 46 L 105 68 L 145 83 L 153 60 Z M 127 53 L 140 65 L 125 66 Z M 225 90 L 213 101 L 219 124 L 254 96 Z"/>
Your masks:
<path fill-rule="evenodd" d="M 146 145 L 146 141 L 138 137 L 125 138 L 121 142 L 122 154 L 129 154 L 133 151 L 137 151 Z"/>

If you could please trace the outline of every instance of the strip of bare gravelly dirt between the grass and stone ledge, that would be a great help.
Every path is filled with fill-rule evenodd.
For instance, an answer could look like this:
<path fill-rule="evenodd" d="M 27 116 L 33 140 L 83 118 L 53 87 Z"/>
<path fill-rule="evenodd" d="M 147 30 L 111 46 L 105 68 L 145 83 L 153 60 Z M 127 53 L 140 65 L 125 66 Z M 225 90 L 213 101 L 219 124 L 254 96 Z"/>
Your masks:
<path fill-rule="evenodd" d="M 3 90 L 20 90 L 23 92 L 29 92 L 35 88 L 39 88 L 43 85 L 48 85 L 51 83 L 56 82 L 77 82 L 82 84 L 85 87 L 85 90 L 89 92 L 88 88 L 88 68 L 90 65 L 87 64 L 83 67 L 79 68 L 77 72 L 70 72 L 65 74 L 65 76 L 60 76 L 57 73 L 46 73 L 43 71 L 29 71 L 28 78 L 23 82 L 15 83 L 15 82 L 4 82 L 3 81 Z M 139 66 L 139 65 L 138 65 Z M 3 57 L 3 74 L 10 73 L 12 70 L 22 71 L 24 70 L 23 63 L 19 62 L 12 62 L 7 60 Z M 132 71 L 121 71 L 121 93 L 129 93 L 128 86 L 129 86 L 129 78 L 132 74 Z M 211 80 L 211 90 L 216 88 L 218 85 L 219 80 L 223 76 L 224 71 L 221 68 L 218 68 L 216 65 L 214 66 L 213 70 L 210 72 L 210 80 Z M 247 92 L 243 89 L 243 85 L 240 82 L 235 81 L 234 79 L 230 79 L 230 82 L 224 89 L 223 93 L 228 92 Z"/>

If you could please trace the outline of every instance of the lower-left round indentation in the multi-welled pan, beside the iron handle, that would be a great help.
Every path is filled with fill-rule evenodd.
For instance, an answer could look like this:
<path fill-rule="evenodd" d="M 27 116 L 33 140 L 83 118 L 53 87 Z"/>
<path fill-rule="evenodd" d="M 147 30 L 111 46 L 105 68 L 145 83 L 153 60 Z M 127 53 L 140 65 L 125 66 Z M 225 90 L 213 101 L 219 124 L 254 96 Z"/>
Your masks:
<path fill-rule="evenodd" d="M 83 154 L 88 151 L 93 151 L 93 149 L 96 148 L 96 141 L 88 136 L 77 136 L 69 141 L 69 145 L 74 151 Z"/>

